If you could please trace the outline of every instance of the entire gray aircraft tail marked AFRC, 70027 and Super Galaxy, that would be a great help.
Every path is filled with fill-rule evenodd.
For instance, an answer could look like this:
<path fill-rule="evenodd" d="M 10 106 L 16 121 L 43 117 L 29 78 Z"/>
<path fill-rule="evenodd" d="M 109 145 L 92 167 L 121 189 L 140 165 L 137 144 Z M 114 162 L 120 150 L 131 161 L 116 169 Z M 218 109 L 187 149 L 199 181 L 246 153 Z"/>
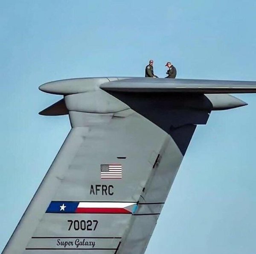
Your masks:
<path fill-rule="evenodd" d="M 144 253 L 196 125 L 212 110 L 246 105 L 228 94 L 201 94 L 199 86 L 188 93 L 193 82 L 111 77 L 40 86 L 64 95 L 41 114 L 68 113 L 72 129 L 3 253 Z M 243 84 L 201 82 L 217 92 Z M 164 85 L 176 91 L 174 84 L 182 94 L 162 92 Z M 255 92 L 256 85 L 239 89 Z M 106 165 L 119 173 L 105 179 Z"/>

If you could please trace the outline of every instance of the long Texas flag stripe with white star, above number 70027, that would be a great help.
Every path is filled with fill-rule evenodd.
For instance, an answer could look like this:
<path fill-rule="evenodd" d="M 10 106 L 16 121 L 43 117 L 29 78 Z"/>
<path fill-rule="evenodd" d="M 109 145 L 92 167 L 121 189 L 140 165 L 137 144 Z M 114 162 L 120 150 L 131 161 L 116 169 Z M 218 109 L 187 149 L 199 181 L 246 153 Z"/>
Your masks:
<path fill-rule="evenodd" d="M 46 213 L 64 214 L 133 214 L 137 203 L 133 202 L 76 202 L 52 201 Z"/>

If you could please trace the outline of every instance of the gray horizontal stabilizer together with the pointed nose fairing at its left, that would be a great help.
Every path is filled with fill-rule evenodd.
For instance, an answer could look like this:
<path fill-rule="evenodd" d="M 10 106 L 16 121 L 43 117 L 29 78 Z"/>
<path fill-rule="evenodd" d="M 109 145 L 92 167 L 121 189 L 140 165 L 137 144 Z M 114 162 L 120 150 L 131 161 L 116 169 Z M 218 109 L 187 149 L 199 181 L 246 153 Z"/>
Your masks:
<path fill-rule="evenodd" d="M 95 91 L 125 92 L 189 92 L 204 94 L 254 93 L 255 81 L 185 80 L 142 77 L 101 77 L 58 80 L 40 86 L 41 91 L 51 94 L 75 94 Z"/>

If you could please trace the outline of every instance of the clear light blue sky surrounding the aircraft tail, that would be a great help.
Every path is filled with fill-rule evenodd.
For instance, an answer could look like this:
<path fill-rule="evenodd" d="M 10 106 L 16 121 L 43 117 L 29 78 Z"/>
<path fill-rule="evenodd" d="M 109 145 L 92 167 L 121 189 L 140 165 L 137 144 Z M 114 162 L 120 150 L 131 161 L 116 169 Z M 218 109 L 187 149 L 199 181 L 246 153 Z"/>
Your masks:
<path fill-rule="evenodd" d="M 60 99 L 74 77 L 256 80 L 256 1 L 0 0 L 0 251 L 63 143 Z M 256 253 L 256 94 L 198 126 L 146 254 Z"/>

